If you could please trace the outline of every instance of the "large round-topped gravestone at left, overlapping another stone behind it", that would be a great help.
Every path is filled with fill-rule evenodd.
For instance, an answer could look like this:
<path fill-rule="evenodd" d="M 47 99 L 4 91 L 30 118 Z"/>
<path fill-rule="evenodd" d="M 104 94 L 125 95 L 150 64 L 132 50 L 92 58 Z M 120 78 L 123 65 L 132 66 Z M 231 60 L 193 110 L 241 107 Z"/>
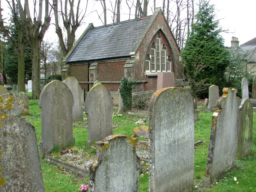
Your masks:
<path fill-rule="evenodd" d="M 52 152 L 54 146 L 73 145 L 73 96 L 66 84 L 59 80 L 48 83 L 39 98 L 42 122 L 41 155 Z"/>

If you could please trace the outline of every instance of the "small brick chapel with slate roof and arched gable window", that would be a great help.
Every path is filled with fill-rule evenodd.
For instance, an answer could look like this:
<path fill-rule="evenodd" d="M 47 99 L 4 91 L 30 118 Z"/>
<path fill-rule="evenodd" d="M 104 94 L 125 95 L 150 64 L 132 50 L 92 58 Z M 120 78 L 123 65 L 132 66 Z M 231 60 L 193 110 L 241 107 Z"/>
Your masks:
<path fill-rule="evenodd" d="M 85 92 L 100 80 L 118 103 L 123 76 L 136 80 L 136 92 L 156 91 L 159 72 L 182 78 L 180 50 L 160 8 L 152 16 L 94 27 L 89 24 L 64 58 L 62 80 L 78 79 Z"/>

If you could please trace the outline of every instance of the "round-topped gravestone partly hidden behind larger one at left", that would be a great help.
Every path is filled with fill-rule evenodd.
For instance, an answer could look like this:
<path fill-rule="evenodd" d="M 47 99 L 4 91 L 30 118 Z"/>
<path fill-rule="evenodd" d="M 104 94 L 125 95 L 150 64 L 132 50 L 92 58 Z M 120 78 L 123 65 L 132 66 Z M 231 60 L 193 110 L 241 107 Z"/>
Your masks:
<path fill-rule="evenodd" d="M 73 99 L 74 99 L 74 105 L 72 108 L 73 121 L 82 120 L 83 119 L 83 109 L 82 109 L 82 100 L 81 100 L 82 88 L 75 77 L 68 77 L 66 80 L 64 80 L 64 83 L 68 86 L 68 88 L 72 92 Z"/>

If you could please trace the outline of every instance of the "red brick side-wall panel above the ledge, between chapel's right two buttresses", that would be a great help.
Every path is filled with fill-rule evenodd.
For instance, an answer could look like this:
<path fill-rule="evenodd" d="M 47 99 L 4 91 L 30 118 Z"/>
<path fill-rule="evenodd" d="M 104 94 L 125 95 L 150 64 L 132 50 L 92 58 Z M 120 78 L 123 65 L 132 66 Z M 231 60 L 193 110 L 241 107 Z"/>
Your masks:
<path fill-rule="evenodd" d="M 99 80 L 120 81 L 124 76 L 124 64 L 125 61 L 100 63 L 98 66 Z"/>

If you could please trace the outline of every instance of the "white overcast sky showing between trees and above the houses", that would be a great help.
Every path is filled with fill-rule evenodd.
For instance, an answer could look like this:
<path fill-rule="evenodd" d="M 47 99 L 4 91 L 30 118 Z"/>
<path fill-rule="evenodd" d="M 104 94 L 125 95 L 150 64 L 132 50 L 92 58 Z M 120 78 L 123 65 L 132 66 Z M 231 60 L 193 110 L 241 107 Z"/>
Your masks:
<path fill-rule="evenodd" d="M 1 1 L 2 8 L 7 11 L 8 8 L 5 5 L 5 0 Z M 32 2 L 32 0 L 29 0 L 29 2 L 30 1 Z M 195 3 L 197 3 L 197 1 L 198 0 L 194 0 Z M 85 0 L 81 0 L 81 9 L 85 8 L 85 2 Z M 106 2 L 108 2 L 108 0 L 106 0 Z M 152 2 L 153 0 L 150 0 L 150 4 L 152 4 Z M 134 0 L 134 3 L 136 3 L 136 0 Z M 156 4 L 158 3 L 159 6 L 161 6 L 162 0 L 156 0 Z M 211 0 L 210 3 L 215 5 L 216 19 L 220 19 L 220 26 L 222 29 L 229 31 L 229 33 L 221 33 L 222 37 L 225 39 L 225 46 L 230 46 L 232 36 L 237 37 L 240 44 L 243 44 L 256 37 L 256 0 Z M 107 7 L 110 8 L 110 4 L 108 4 Z M 80 37 L 82 32 L 84 32 L 89 23 L 93 23 L 94 26 L 102 26 L 102 22 L 98 19 L 96 12 L 89 14 L 93 10 L 98 10 L 99 14 L 102 13 L 102 6 L 99 1 L 96 2 L 95 0 L 89 0 L 86 13 L 87 16 L 84 19 L 84 24 L 80 26 L 76 32 L 77 39 Z M 132 13 L 134 13 L 134 11 L 132 11 Z M 4 17 L 8 17 L 6 14 L 6 12 L 3 12 Z M 150 7 L 148 7 L 148 15 L 152 15 Z M 112 23 L 110 12 L 107 13 L 107 16 L 107 23 Z M 120 18 L 121 21 L 128 20 L 128 8 L 126 5 L 126 0 L 122 0 Z M 131 19 L 133 18 L 134 16 L 131 16 Z M 54 16 L 52 16 L 51 22 L 54 22 Z M 57 40 L 55 26 L 53 24 L 50 25 L 50 28 L 46 32 L 44 40 Z"/>

